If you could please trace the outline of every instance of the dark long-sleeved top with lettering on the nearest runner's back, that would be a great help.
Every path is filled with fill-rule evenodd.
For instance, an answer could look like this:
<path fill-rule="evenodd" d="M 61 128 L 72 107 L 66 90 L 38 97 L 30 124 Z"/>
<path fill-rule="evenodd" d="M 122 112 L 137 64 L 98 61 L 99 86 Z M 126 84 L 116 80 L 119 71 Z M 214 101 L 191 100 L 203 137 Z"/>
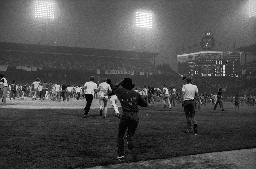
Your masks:
<path fill-rule="evenodd" d="M 142 98 L 141 94 L 134 90 L 119 88 L 114 85 L 112 90 L 119 99 L 123 111 L 139 112 L 138 106 L 147 107 L 147 102 Z"/>

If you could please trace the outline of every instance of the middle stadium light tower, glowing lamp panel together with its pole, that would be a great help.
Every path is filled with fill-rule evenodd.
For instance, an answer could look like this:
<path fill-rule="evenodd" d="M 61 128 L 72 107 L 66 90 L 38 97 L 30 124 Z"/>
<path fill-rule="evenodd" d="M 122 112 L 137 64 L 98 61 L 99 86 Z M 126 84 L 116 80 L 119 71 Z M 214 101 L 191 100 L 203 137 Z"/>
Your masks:
<path fill-rule="evenodd" d="M 153 14 L 147 12 L 136 12 L 135 27 L 151 29 L 153 27 Z M 145 33 L 141 30 L 141 51 L 145 52 Z"/>

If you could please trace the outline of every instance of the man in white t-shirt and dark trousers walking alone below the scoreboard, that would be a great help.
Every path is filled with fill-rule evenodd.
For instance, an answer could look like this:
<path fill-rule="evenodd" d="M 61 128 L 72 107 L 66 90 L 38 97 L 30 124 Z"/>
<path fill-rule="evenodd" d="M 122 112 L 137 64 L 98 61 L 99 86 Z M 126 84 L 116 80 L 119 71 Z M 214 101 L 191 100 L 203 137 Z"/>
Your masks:
<path fill-rule="evenodd" d="M 197 96 L 197 101 L 200 103 L 200 97 L 198 94 L 197 86 L 192 84 L 193 78 L 191 76 L 186 79 L 187 84 L 182 87 L 182 107 L 184 107 L 184 112 L 187 119 L 188 132 L 193 132 L 193 127 L 195 133 L 197 133 L 197 121 L 195 117 L 195 93 Z M 192 122 L 192 123 L 191 123 Z M 193 124 L 193 126 L 192 126 Z"/>

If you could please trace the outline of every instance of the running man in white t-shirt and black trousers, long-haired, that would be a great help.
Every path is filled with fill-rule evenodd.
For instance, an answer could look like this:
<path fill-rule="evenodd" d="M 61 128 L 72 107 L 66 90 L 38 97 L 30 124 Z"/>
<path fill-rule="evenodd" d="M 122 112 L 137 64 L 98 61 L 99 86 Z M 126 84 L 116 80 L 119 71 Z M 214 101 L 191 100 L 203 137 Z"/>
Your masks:
<path fill-rule="evenodd" d="M 84 97 L 86 99 L 86 106 L 84 108 L 85 112 L 83 115 L 83 118 L 87 118 L 87 115 L 90 111 L 92 100 L 93 100 L 93 95 L 94 93 L 97 93 L 97 84 L 94 83 L 95 77 L 91 76 L 89 78 L 89 82 L 86 82 L 83 86 L 83 88 L 86 90 Z"/>

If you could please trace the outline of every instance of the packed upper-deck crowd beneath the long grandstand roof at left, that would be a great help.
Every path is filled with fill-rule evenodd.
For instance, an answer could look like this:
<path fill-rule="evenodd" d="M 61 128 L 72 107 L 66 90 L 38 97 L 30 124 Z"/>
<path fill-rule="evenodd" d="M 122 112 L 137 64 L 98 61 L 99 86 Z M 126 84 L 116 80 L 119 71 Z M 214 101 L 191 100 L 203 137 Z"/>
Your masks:
<path fill-rule="evenodd" d="M 3 61 L 5 65 L 12 66 L 37 66 L 44 68 L 61 69 L 83 69 L 83 70 L 126 70 L 135 72 L 157 73 L 150 61 L 145 59 L 126 59 L 114 57 L 96 57 L 96 56 L 74 56 L 64 54 L 46 54 L 46 53 L 22 53 L 5 52 Z"/>

